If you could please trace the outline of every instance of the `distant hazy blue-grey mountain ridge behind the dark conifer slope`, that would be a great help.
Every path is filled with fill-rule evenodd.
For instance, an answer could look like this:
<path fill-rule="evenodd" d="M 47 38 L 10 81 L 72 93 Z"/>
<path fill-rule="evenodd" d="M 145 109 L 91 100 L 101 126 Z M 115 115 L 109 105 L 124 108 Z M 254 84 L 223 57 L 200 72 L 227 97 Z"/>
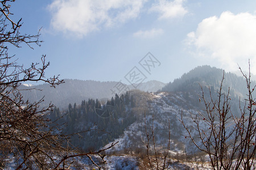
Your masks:
<path fill-rule="evenodd" d="M 41 104 L 42 107 L 46 107 L 46 105 L 52 102 L 52 104 L 59 108 L 67 108 L 69 103 L 81 103 L 82 100 L 109 99 L 115 95 L 116 92 L 112 90 L 114 90 L 114 87 L 118 84 L 118 82 L 77 79 L 64 79 L 64 82 L 65 83 L 56 86 L 56 88 L 50 87 L 49 84 L 40 84 L 37 86 L 23 84 L 20 88 L 24 90 L 22 91 L 24 99 L 39 101 L 44 97 L 44 101 Z M 164 85 L 165 84 L 162 82 L 151 80 L 150 82 L 139 84 L 138 89 L 154 92 L 163 88 Z M 125 84 L 125 86 L 127 85 Z M 128 87 L 130 90 L 134 89 L 131 85 Z"/>

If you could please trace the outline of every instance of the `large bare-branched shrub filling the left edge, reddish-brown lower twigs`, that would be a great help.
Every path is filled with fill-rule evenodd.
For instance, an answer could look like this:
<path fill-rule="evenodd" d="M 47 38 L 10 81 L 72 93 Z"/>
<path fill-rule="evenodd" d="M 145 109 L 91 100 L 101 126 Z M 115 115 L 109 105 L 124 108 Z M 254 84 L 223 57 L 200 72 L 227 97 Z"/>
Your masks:
<path fill-rule="evenodd" d="M 39 40 L 40 31 L 36 35 L 20 33 L 22 19 L 18 22 L 11 19 L 12 2 L 15 0 L 0 1 L 0 155 L 1 158 L 7 158 L 13 154 L 19 163 L 16 169 L 58 168 L 66 159 L 78 156 L 74 154 L 76 150 L 65 145 L 69 141 L 69 135 L 61 133 L 61 126 L 53 125 L 49 120 L 48 112 L 53 105 L 39 108 L 43 99 L 35 103 L 24 100 L 20 84 L 39 81 L 55 87 L 63 83 L 63 80 L 59 79 L 59 75 L 45 77 L 49 66 L 45 55 L 41 57 L 40 63 L 31 63 L 27 68 L 20 65 L 15 56 L 9 56 L 10 46 L 20 48 L 25 44 L 33 48 L 33 45 L 40 46 L 42 42 Z M 80 155 L 90 157 L 104 150 Z"/>

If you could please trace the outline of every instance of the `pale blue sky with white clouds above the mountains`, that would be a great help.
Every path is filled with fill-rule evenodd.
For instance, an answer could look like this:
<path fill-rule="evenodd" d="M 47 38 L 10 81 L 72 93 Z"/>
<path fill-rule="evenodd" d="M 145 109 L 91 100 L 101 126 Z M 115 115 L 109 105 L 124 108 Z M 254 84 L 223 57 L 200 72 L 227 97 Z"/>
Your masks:
<path fill-rule="evenodd" d="M 44 42 L 9 53 L 24 66 L 46 54 L 48 77 L 168 83 L 201 65 L 248 70 L 249 59 L 256 74 L 256 1 L 19 0 L 11 12 Z"/>

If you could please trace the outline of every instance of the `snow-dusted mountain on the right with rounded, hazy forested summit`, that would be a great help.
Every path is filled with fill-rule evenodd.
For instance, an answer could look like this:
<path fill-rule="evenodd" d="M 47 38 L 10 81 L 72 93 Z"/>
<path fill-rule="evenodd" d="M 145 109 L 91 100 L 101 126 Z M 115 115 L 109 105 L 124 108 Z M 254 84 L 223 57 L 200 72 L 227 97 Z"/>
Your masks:
<path fill-rule="evenodd" d="M 191 116 L 195 117 L 198 113 L 206 116 L 205 105 L 203 101 L 199 100 L 202 95 L 201 87 L 207 101 L 210 101 L 209 89 L 212 92 L 213 100 L 217 99 L 217 92 L 223 75 L 222 93 L 227 94 L 230 87 L 231 112 L 233 115 L 240 115 L 239 104 L 241 103 L 243 106 L 244 100 L 242 98 L 246 97 L 247 94 L 245 79 L 233 73 L 225 73 L 224 70 L 216 67 L 199 66 L 183 74 L 181 78 L 175 79 L 174 82 L 168 83 L 162 88 L 162 91 L 135 95 L 137 96 L 135 97 L 136 101 L 140 102 L 137 103 L 137 120 L 126 128 L 123 135 L 115 139 L 119 143 L 113 148 L 113 151 L 129 151 L 134 147 L 136 147 L 134 150 L 144 149 L 142 143 L 142 140 L 146 140 L 144 119 L 146 118 L 147 127 L 150 129 L 152 115 L 154 115 L 158 148 L 163 149 L 167 145 L 168 120 L 170 120 L 172 154 L 195 153 L 198 151 L 195 145 L 184 137 L 187 132 L 179 121 L 181 112 L 188 127 L 193 122 Z M 255 82 L 252 84 L 255 84 Z M 240 97 L 242 97 L 241 100 Z M 143 111 L 146 112 L 146 117 L 144 117 Z M 229 124 L 229 128 L 231 128 L 232 122 L 229 122 Z M 204 122 L 201 123 L 201 126 L 202 128 L 207 127 Z"/>

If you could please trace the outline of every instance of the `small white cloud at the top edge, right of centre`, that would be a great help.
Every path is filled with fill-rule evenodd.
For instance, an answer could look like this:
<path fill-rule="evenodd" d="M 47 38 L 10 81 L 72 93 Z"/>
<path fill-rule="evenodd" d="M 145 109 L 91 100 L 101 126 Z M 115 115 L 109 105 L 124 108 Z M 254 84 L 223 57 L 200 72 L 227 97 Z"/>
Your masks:
<path fill-rule="evenodd" d="M 182 17 L 188 13 L 183 7 L 184 0 L 159 0 L 158 3 L 152 5 L 150 11 L 159 12 L 159 19 L 177 18 Z"/>

